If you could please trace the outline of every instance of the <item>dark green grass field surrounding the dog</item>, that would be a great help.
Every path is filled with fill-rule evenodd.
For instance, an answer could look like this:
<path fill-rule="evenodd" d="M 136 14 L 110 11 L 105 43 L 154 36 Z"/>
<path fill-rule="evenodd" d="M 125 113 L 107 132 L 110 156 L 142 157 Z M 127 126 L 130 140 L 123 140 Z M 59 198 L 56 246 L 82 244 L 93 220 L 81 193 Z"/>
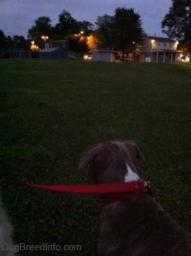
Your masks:
<path fill-rule="evenodd" d="M 184 63 L 2 59 L 0 175 L 27 183 L 90 183 L 78 171 L 88 146 L 134 140 L 146 158 L 136 162 L 141 177 L 152 182 L 164 209 L 191 230 L 190 85 L 191 65 Z M 97 255 L 96 195 L 0 188 L 15 243 L 81 245 L 78 252 L 50 254 Z"/>

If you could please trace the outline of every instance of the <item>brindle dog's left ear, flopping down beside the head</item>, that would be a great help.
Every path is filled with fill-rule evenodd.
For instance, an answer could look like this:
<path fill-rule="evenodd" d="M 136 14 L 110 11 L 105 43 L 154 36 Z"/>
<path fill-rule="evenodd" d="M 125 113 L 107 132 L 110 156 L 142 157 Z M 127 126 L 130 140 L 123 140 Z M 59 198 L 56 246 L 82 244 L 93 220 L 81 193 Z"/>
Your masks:
<path fill-rule="evenodd" d="M 98 154 L 101 154 L 101 151 L 102 151 L 102 147 L 99 144 L 92 147 L 88 147 L 88 149 L 86 149 L 81 156 L 78 170 L 87 169 L 88 165 L 90 165 L 90 163 L 94 160 L 94 158 Z"/>

